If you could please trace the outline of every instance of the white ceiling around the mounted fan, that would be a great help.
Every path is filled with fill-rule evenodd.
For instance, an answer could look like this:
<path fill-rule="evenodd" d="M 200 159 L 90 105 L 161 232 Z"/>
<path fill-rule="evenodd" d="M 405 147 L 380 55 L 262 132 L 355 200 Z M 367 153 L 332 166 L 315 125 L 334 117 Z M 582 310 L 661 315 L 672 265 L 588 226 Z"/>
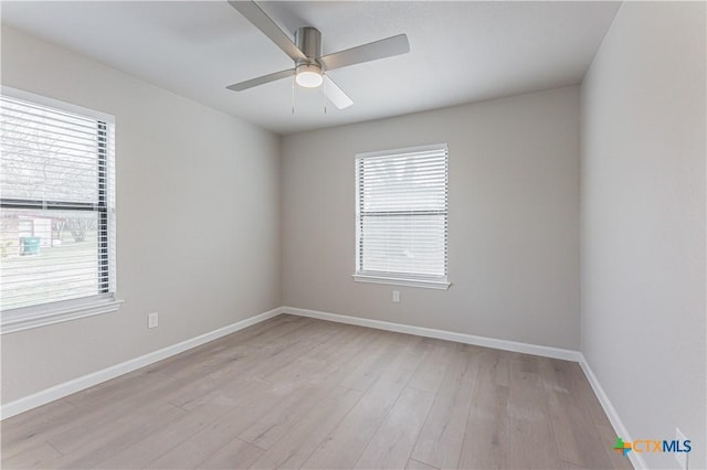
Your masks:
<path fill-rule="evenodd" d="M 2 1 L 2 23 L 279 133 L 578 84 L 618 2 L 260 2 L 287 33 L 321 31 L 324 53 L 407 33 L 411 52 L 331 71 L 354 106 L 324 114 L 292 79 L 226 85 L 292 61 L 225 1 Z"/>

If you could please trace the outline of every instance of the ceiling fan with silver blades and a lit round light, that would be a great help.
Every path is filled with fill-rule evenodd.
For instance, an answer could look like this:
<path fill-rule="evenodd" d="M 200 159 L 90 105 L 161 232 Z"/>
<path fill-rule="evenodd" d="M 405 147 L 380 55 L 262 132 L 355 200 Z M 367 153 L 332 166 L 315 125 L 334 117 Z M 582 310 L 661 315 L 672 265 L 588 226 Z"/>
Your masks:
<path fill-rule="evenodd" d="M 316 28 L 299 28 L 293 42 L 254 1 L 229 0 L 229 4 L 261 30 L 295 63 L 293 68 L 263 75 L 226 87 L 233 92 L 242 92 L 294 75 L 295 83 L 306 88 L 316 88 L 326 82 L 324 94 L 337 108 L 344 109 L 351 106 L 354 102 L 334 83 L 326 72 L 410 52 L 408 36 L 398 34 L 345 51 L 321 55 L 321 33 Z"/>

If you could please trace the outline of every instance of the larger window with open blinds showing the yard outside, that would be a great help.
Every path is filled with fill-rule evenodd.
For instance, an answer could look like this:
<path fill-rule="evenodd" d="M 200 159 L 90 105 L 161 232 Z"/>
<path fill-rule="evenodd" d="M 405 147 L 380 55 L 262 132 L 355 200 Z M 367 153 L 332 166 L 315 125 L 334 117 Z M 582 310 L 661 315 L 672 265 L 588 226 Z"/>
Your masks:
<path fill-rule="evenodd" d="M 113 118 L 2 88 L 2 332 L 117 309 Z"/>

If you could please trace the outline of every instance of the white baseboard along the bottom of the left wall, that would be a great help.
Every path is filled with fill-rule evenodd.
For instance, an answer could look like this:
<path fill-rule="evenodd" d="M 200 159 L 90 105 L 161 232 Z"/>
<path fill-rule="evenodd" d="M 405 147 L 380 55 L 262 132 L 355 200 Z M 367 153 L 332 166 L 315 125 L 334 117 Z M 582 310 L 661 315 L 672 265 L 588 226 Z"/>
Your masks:
<path fill-rule="evenodd" d="M 0 408 L 0 417 L 1 419 L 6 419 L 11 416 L 19 415 L 20 413 L 45 405 L 55 399 L 92 387 L 102 382 L 109 381 L 110 378 L 115 378 L 119 375 L 127 374 L 128 372 L 133 372 L 140 367 L 145 367 L 146 365 L 150 365 L 175 354 L 179 354 L 180 352 L 217 340 L 221 337 L 225 337 L 226 334 L 243 330 L 244 328 L 251 327 L 255 323 L 260 323 L 261 321 L 265 321 L 270 318 L 278 316 L 279 313 L 282 313 L 282 307 L 261 314 L 256 314 L 251 318 L 246 318 L 245 320 L 238 321 L 235 323 L 229 324 L 228 327 L 200 334 L 199 337 L 191 338 L 171 346 L 167 346 L 161 350 L 141 355 L 139 357 L 131 359 L 120 364 L 113 365 L 102 371 L 74 378 L 73 381 L 64 382 L 63 384 L 55 385 L 23 398 L 15 399 L 14 402 L 2 405 L 2 407 Z"/>

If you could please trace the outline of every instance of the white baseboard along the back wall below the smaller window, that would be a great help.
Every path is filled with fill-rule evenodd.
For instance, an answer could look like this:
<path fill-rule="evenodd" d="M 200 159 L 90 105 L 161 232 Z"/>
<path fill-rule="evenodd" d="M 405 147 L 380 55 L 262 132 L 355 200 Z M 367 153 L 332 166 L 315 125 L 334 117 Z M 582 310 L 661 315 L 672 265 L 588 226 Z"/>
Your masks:
<path fill-rule="evenodd" d="M 299 317 L 317 318 L 319 320 L 335 321 L 337 323 L 356 324 L 358 327 L 374 328 L 377 330 L 394 331 L 398 333 L 416 334 L 419 337 L 436 338 L 439 340 L 455 341 L 457 343 L 475 344 L 478 346 L 494 348 L 497 350 L 513 351 L 525 354 L 541 355 L 545 357 L 561 359 L 564 361 L 579 362 L 582 354 L 579 351 L 564 350 L 560 348 L 540 346 L 537 344 L 519 343 L 516 341 L 496 340 L 474 334 L 455 333 L 453 331 L 435 330 L 424 327 L 411 327 L 402 323 L 391 323 L 389 321 L 371 320 L 367 318 L 349 317 L 338 313 L 320 312 L 316 310 L 297 309 L 294 307 L 283 307 L 283 313 L 292 313 Z"/>

